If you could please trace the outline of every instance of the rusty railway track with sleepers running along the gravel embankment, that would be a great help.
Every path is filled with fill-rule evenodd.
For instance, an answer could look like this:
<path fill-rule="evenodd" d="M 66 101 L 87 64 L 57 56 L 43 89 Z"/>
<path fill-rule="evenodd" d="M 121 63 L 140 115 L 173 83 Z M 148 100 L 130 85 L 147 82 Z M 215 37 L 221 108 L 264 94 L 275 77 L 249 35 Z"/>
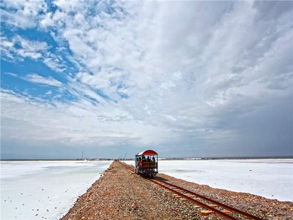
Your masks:
<path fill-rule="evenodd" d="M 125 168 L 131 170 L 134 172 L 134 167 L 122 162 L 119 162 L 121 165 L 123 165 Z M 241 219 L 251 219 L 251 220 L 264 220 L 261 219 L 257 216 L 251 215 L 249 213 L 243 212 L 239 209 L 233 208 L 231 206 L 225 205 L 223 203 L 217 202 L 215 200 L 211 200 L 209 198 L 206 198 L 204 196 L 201 196 L 197 193 L 191 192 L 189 190 L 186 190 L 182 187 L 179 187 L 177 185 L 173 185 L 171 183 L 167 183 L 165 181 L 159 180 L 157 178 L 147 178 L 147 181 L 150 181 L 151 183 L 158 184 L 159 186 L 165 188 L 166 191 L 168 192 L 173 192 L 173 196 L 175 199 L 182 199 L 182 200 L 189 200 L 191 202 L 194 202 L 198 204 L 196 207 L 200 208 L 206 208 L 206 211 L 200 211 L 200 215 L 206 215 L 206 214 L 211 214 L 211 213 L 217 213 L 218 215 L 229 219 L 229 220 L 240 220 L 232 215 L 229 215 L 228 213 L 231 214 L 237 214 L 237 217 L 240 216 Z"/>

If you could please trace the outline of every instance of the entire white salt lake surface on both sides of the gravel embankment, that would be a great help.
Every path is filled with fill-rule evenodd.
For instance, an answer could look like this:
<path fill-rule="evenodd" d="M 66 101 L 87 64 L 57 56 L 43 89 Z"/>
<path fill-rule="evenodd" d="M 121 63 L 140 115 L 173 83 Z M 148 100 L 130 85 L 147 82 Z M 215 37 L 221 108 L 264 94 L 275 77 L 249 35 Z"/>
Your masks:
<path fill-rule="evenodd" d="M 58 220 L 112 161 L 1 161 L 0 219 Z M 134 161 L 126 161 L 134 164 Z M 159 172 L 293 202 L 293 159 L 160 160 Z"/>

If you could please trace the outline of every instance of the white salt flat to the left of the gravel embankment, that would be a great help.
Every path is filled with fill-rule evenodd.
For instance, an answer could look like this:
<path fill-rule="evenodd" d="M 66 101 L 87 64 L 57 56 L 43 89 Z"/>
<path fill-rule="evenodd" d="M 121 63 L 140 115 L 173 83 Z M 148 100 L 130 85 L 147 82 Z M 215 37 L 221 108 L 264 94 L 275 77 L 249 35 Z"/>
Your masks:
<path fill-rule="evenodd" d="M 1 220 L 58 220 L 112 161 L 1 162 Z"/>

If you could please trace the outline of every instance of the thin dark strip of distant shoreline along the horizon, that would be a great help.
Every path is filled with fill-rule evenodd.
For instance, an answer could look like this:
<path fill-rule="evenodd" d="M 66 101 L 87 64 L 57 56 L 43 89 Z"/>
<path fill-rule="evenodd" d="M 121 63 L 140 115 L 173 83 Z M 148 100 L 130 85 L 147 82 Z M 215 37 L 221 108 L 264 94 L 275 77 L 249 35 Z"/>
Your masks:
<path fill-rule="evenodd" d="M 293 159 L 293 157 L 234 157 L 234 158 L 162 158 L 159 160 L 172 161 L 172 160 L 183 160 L 183 161 L 192 161 L 192 160 L 264 160 L 264 159 Z M 116 159 L 0 159 L 0 161 L 111 161 Z M 125 159 L 119 161 L 133 161 L 134 159 Z"/>

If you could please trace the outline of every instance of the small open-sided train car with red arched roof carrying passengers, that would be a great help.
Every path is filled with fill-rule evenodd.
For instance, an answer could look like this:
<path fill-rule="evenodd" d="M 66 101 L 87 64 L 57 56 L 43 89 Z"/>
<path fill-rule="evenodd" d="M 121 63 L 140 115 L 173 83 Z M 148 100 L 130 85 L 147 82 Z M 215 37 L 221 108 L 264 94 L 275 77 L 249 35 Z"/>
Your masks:
<path fill-rule="evenodd" d="M 150 161 L 147 161 L 147 157 Z M 146 150 L 135 155 L 135 173 L 156 176 L 158 173 L 158 154 L 153 150 Z"/>

